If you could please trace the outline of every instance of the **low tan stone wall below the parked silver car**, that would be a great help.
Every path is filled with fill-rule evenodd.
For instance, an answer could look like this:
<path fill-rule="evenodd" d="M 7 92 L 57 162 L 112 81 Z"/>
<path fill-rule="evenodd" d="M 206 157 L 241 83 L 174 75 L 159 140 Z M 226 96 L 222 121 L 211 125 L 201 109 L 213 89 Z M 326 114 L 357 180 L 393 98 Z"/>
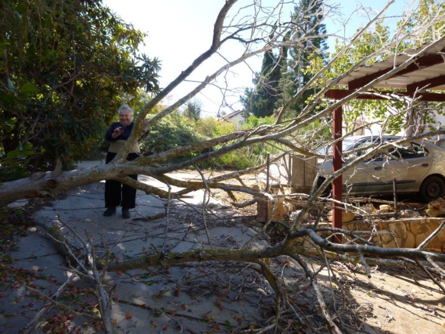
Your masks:
<path fill-rule="evenodd" d="M 395 220 L 374 220 L 378 234 L 373 241 L 385 248 L 416 248 L 435 231 L 444 218 L 404 218 Z M 343 223 L 343 228 L 354 231 L 371 231 L 372 225 L 363 221 Z M 349 239 L 349 237 L 348 237 Z M 367 239 L 367 237 L 365 237 Z M 445 229 L 433 238 L 425 250 L 445 253 Z"/>

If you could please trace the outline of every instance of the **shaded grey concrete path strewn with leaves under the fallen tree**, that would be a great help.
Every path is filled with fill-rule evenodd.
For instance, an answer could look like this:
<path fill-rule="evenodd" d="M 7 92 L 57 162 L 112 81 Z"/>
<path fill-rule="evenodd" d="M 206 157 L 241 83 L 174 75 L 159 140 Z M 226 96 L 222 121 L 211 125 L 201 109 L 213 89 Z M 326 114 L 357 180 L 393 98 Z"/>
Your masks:
<path fill-rule="evenodd" d="M 103 162 L 84 163 L 80 168 L 100 163 Z M 139 180 L 165 187 L 148 177 L 140 177 Z M 192 198 L 170 202 L 137 191 L 137 204 L 131 210 L 131 219 L 123 219 L 119 208 L 116 215 L 104 217 L 103 194 L 104 182 L 72 189 L 66 198 L 54 200 L 51 206 L 36 212 L 35 219 L 62 226 L 64 234 L 72 242 L 79 242 L 78 238 L 87 242 L 88 233 L 98 256 L 104 256 L 103 245 L 106 245 L 116 260 L 159 251 L 209 248 L 210 244 L 214 248 L 238 248 L 255 234 L 234 212 L 213 198 L 207 204 L 204 221 L 203 191 L 195 191 Z M 149 221 L 145 219 L 165 213 L 167 205 L 170 208 L 168 216 Z M 28 278 L 20 279 L 20 275 L 8 274 L 5 280 L 3 275 L 0 333 L 20 333 L 45 304 L 43 298 L 30 292 L 26 286 L 33 286 L 49 296 L 71 275 L 66 270 L 65 259 L 40 228 L 30 229 L 16 249 L 11 254 L 11 266 Z M 114 289 L 111 309 L 117 333 L 229 333 L 256 326 L 256 319 L 265 317 L 265 313 L 273 307 L 273 300 L 266 292 L 267 283 L 262 282 L 255 272 L 244 270 L 243 267 L 230 269 L 224 263 L 208 263 L 125 273 L 107 272 L 104 284 L 107 290 Z M 255 282 L 255 289 L 241 285 L 241 278 Z M 259 290 L 257 287 L 262 285 L 264 288 Z M 92 288 L 91 281 L 76 277 L 59 300 L 71 309 L 97 315 Z M 160 291 L 164 293 L 159 295 Z M 100 327 L 94 321 L 80 316 L 72 318 L 67 311 L 57 308 L 44 314 L 41 329 L 45 321 L 45 330 L 48 326 L 58 326 L 66 333 L 81 333 L 81 330 L 82 333 L 100 333 Z M 34 329 L 31 333 L 42 332 Z"/>

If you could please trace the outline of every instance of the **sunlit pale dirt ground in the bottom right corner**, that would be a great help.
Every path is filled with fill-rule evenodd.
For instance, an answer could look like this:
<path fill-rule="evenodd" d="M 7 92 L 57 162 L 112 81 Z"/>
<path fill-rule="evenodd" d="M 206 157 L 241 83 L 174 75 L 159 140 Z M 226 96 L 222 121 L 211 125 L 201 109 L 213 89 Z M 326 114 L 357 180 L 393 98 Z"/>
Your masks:
<path fill-rule="evenodd" d="M 357 275 L 351 295 L 372 314 L 367 324 L 386 333 L 445 333 L 445 294 L 423 273 L 377 269 Z"/>

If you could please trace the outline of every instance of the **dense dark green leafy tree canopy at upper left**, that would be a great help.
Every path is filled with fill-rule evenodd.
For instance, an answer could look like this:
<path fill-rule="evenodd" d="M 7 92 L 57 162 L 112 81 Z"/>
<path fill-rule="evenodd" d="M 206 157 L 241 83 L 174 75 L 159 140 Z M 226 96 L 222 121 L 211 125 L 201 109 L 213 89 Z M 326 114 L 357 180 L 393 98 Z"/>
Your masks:
<path fill-rule="evenodd" d="M 136 53 L 143 37 L 101 1 L 2 1 L 0 173 L 82 159 L 121 93 L 158 91 L 159 60 Z"/>

